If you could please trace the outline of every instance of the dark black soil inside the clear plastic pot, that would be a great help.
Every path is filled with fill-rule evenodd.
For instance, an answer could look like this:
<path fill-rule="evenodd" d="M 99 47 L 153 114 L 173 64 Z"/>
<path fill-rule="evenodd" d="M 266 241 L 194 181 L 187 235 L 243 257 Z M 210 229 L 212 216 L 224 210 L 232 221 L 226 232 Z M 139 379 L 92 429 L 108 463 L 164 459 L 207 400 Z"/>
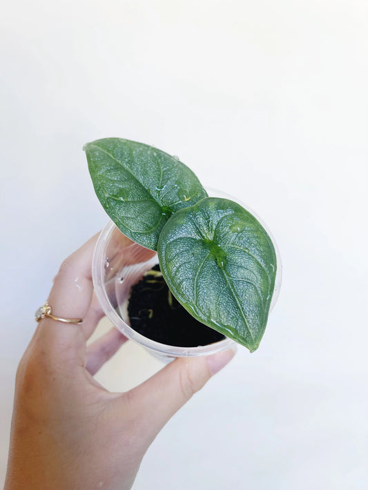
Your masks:
<path fill-rule="evenodd" d="M 132 286 L 128 314 L 132 329 L 162 344 L 197 347 L 224 339 L 222 333 L 195 320 L 177 302 L 158 264 Z"/>

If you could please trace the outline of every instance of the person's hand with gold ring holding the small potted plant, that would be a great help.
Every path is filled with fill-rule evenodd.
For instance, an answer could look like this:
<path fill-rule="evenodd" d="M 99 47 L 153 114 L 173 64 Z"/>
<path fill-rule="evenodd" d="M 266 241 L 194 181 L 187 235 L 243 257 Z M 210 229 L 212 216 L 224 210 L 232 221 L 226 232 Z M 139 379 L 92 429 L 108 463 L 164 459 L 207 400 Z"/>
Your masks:
<path fill-rule="evenodd" d="M 234 355 L 179 358 L 127 393 L 94 378 L 126 338 L 115 328 L 86 346 L 103 316 L 91 279 L 93 237 L 61 265 L 17 371 L 5 490 L 124 490 L 164 424 Z"/>

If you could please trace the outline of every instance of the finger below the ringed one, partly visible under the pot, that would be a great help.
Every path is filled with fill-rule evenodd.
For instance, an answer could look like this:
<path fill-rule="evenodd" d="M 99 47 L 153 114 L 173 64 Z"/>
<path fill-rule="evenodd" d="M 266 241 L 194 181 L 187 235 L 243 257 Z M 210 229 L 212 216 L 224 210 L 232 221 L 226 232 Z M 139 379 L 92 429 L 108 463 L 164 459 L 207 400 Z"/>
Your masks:
<path fill-rule="evenodd" d="M 92 375 L 105 364 L 106 361 L 113 357 L 115 352 L 126 342 L 127 338 L 124 337 L 115 327 L 102 335 L 99 339 L 95 340 L 93 344 L 87 347 L 86 355 L 86 369 Z"/>

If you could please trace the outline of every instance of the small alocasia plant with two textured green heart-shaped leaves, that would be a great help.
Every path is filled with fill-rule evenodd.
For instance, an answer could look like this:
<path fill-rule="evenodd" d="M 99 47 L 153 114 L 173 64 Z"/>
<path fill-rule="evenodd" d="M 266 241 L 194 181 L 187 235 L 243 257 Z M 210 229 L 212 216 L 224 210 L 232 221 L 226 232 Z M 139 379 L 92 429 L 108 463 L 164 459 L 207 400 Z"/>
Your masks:
<path fill-rule="evenodd" d="M 197 320 L 251 352 L 266 328 L 276 255 L 257 219 L 207 197 L 177 157 L 127 139 L 84 146 L 97 197 L 117 227 L 157 251 L 162 275 Z"/>

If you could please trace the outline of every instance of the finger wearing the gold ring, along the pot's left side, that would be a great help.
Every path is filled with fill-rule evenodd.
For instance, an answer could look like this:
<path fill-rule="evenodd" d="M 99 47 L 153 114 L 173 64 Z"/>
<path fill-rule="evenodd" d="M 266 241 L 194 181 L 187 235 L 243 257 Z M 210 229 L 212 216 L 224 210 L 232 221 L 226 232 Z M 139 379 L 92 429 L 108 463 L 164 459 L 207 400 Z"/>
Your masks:
<path fill-rule="evenodd" d="M 92 258 L 97 237 L 95 235 L 89 239 L 61 264 L 48 297 L 52 315 L 86 319 L 93 295 Z M 93 322 L 90 320 L 91 329 Z M 81 325 L 61 323 L 46 317 L 39 322 L 35 342 L 41 344 L 42 349 L 51 356 L 84 363 L 86 342 Z"/>

